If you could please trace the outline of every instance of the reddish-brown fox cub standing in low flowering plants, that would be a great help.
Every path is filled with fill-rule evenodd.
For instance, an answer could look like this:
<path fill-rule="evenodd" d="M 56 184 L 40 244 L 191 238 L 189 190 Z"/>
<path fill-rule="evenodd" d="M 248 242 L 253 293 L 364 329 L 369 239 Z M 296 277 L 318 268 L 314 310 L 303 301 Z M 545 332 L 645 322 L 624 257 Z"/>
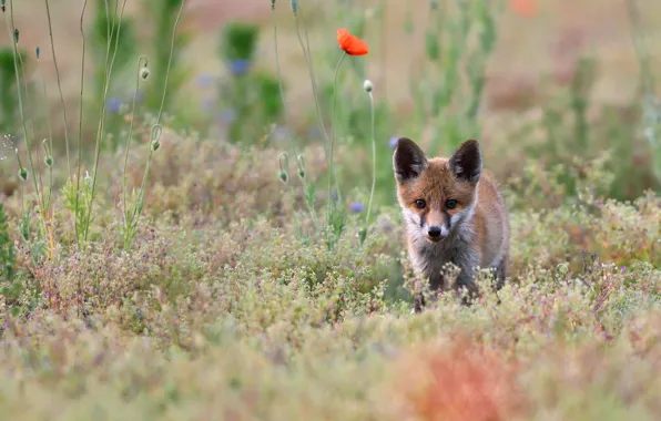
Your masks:
<path fill-rule="evenodd" d="M 427 158 L 400 137 L 393 166 L 414 270 L 433 291 L 466 287 L 476 294 L 476 267 L 491 268 L 500 288 L 509 271 L 509 216 L 496 183 L 482 173 L 479 143 L 464 142 L 449 158 Z M 448 263 L 460 269 L 452 286 L 441 274 Z M 416 301 L 420 311 L 424 300 Z"/>

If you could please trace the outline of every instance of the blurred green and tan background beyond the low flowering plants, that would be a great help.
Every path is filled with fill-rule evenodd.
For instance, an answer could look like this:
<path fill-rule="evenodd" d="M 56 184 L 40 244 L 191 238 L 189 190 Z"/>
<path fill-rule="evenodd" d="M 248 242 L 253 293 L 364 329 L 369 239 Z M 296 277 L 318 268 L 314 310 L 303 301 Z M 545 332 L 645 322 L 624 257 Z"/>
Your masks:
<path fill-rule="evenodd" d="M 59 83 L 44 2 L 14 3 L 18 48 L 33 91 L 26 107 L 35 119 L 35 137 L 48 137 L 48 112 L 53 154 L 63 156 L 65 111 L 75 156 L 83 1 L 50 1 Z M 296 19 L 292 3 L 298 8 Z M 103 103 L 108 28 L 105 2 L 85 4 L 81 144 L 89 162 Z M 108 4 L 119 11 L 125 7 L 105 99 L 108 138 L 102 147 L 112 154 L 122 150 L 132 115 L 149 127 L 150 116 L 159 114 L 173 23 L 182 3 Z M 278 86 L 274 22 L 286 106 Z M 334 70 L 340 55 L 336 30 L 343 27 L 364 39 L 370 51 L 339 68 L 332 121 Z M 308 172 L 319 182 L 326 165 L 324 130 L 334 127 L 340 185 L 347 201 L 363 203 L 372 182 L 370 109 L 362 89 L 369 79 L 375 86 L 378 203 L 395 201 L 395 136 L 420 142 L 430 155 L 449 154 L 462 140 L 477 137 L 486 166 L 512 188 L 523 188 L 525 179 L 519 178 L 532 162 L 546 171 L 561 168 L 556 173 L 567 194 L 574 176 L 601 165 L 612 179 L 596 186 L 608 196 L 629 199 L 659 189 L 661 182 L 661 107 L 654 83 L 661 69 L 659 28 L 657 0 L 278 0 L 275 14 L 268 0 L 187 0 L 163 116 L 167 129 L 182 137 L 231 143 L 244 154 L 250 153 L 246 147 L 273 150 L 274 162 L 282 151 L 317 145 L 306 152 L 306 160 L 308 166 L 317 165 Z M 1 132 L 11 136 L 3 140 L 0 183 L 11 195 L 17 166 L 7 151 L 20 145 L 22 136 L 8 41 L 3 28 L 0 123 Z M 303 45 L 311 51 L 312 75 Z M 140 54 L 149 59 L 150 78 L 136 92 Z M 543 182 L 538 184 L 536 188 L 543 188 Z"/>

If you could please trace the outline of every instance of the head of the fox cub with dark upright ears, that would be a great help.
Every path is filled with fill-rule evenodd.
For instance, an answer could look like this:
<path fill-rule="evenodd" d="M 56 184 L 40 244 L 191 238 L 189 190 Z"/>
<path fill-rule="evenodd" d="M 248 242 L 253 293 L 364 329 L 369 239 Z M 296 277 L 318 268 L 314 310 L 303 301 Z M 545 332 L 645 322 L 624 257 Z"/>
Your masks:
<path fill-rule="evenodd" d="M 427 158 L 400 137 L 393 155 L 397 197 L 413 239 L 439 243 L 472 216 L 482 157 L 477 141 L 464 142 L 449 158 Z"/>

